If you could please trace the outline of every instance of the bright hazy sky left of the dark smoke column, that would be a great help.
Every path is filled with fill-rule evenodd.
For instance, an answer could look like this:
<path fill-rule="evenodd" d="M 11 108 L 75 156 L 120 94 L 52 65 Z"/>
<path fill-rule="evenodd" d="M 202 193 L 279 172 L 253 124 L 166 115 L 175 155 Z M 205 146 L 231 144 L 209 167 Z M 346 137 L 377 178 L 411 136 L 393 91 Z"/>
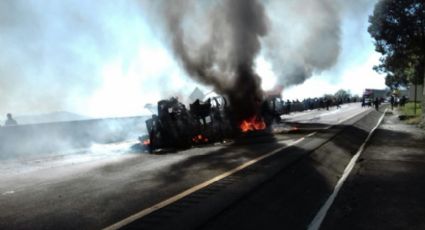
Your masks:
<path fill-rule="evenodd" d="M 0 121 L 7 112 L 140 114 L 186 86 L 155 40 L 137 1 L 0 1 Z"/>

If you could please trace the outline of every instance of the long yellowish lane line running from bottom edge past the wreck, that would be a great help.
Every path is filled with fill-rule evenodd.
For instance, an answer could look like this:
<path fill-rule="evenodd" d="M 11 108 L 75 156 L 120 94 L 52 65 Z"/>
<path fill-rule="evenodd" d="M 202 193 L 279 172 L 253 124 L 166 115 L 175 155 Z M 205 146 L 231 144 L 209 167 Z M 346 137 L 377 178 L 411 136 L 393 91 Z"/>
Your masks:
<path fill-rule="evenodd" d="M 348 117 L 348 118 L 346 118 L 346 119 L 338 122 L 338 124 L 340 124 L 340 123 L 342 123 L 344 121 L 347 121 L 347 120 L 353 118 L 354 116 L 359 115 L 362 112 L 364 112 L 364 111 L 361 111 L 359 113 L 356 113 L 353 116 L 350 116 L 350 117 Z M 330 127 L 332 127 L 332 125 L 329 126 L 329 127 L 326 127 L 325 129 L 329 129 Z M 301 137 L 301 138 L 297 139 L 296 141 L 292 142 L 291 144 L 289 144 L 287 146 L 284 146 L 284 147 L 275 149 L 275 150 L 273 150 L 273 151 L 271 151 L 271 152 L 269 152 L 269 153 L 267 153 L 267 154 L 265 154 L 265 155 L 263 155 L 261 157 L 258 157 L 258 158 L 255 158 L 253 160 L 250 160 L 250 161 L 248 161 L 248 162 L 246 162 L 246 163 L 244 163 L 244 164 L 242 164 L 242 165 L 240 165 L 240 166 L 238 166 L 238 167 L 236 167 L 236 168 L 234 168 L 234 169 L 232 169 L 230 171 L 227 171 L 227 172 L 225 172 L 225 173 L 223 173 L 221 175 L 218 175 L 218 176 L 216 176 L 216 177 L 214 177 L 214 178 L 212 178 L 212 179 L 210 179 L 208 181 L 205 181 L 205 182 L 203 182 L 201 184 L 198 184 L 198 185 L 196 185 L 194 187 L 191 187 L 191 188 L 189 188 L 189 189 L 187 189 L 187 190 L 185 190 L 185 191 L 183 191 L 183 192 L 181 192 L 181 193 L 179 193 L 179 194 L 177 194 L 175 196 L 172 196 L 172 197 L 170 197 L 170 198 L 168 198 L 166 200 L 163 200 L 163 201 L 161 201 L 161 202 L 159 202 L 159 203 L 157 203 L 157 204 L 155 204 L 155 205 L 153 205 L 153 206 L 151 206 L 149 208 L 143 209 L 140 212 L 137 212 L 137 213 L 135 213 L 135 214 L 133 214 L 133 215 L 131 215 L 131 216 L 129 216 L 129 217 L 127 217 L 127 218 L 125 218 L 125 219 L 123 219 L 123 220 L 115 223 L 115 224 L 112 224 L 112 225 L 104 228 L 104 230 L 115 230 L 115 229 L 122 228 L 122 227 L 124 227 L 124 226 L 126 226 L 126 225 L 128 225 L 128 224 L 130 224 L 130 223 L 132 223 L 132 222 L 134 222 L 134 221 L 136 221 L 136 220 L 138 220 L 138 219 L 140 219 L 140 218 L 142 218 L 142 217 L 144 217 L 144 216 L 146 216 L 146 215 L 148 215 L 148 214 L 150 214 L 150 213 L 158 210 L 158 209 L 161 209 L 161 208 L 163 208 L 163 207 L 165 207 L 167 205 L 170 205 L 170 204 L 172 204 L 172 203 L 174 203 L 174 202 L 182 199 L 183 197 L 186 197 L 186 196 L 190 195 L 191 193 L 194 193 L 194 192 L 196 192 L 196 191 L 198 191 L 198 190 L 200 190 L 202 188 L 207 187 L 208 185 L 210 185 L 210 184 L 212 184 L 212 183 L 214 183 L 216 181 L 219 181 L 219 180 L 221 180 L 221 179 L 223 179 L 223 178 L 225 178 L 227 176 L 230 176 L 230 175 L 232 175 L 232 174 L 234 174 L 236 172 L 239 172 L 242 169 L 244 169 L 244 168 L 246 168 L 246 167 L 248 167 L 250 165 L 253 165 L 253 164 L 255 164 L 255 163 L 257 163 L 257 162 L 259 162 L 259 161 L 261 161 L 261 160 L 263 160 L 265 158 L 268 158 L 268 157 L 270 157 L 270 156 L 272 156 L 272 155 L 274 155 L 274 154 L 276 154 L 276 153 L 278 153 L 278 152 L 280 152 L 280 151 L 282 151 L 282 150 L 284 150 L 286 148 L 289 148 L 289 147 L 291 147 L 293 145 L 296 145 L 296 144 L 300 143 L 301 141 L 305 140 L 307 137 L 311 137 L 311 136 L 313 136 L 315 134 L 317 134 L 317 131 L 316 132 L 309 133 L 309 134 L 305 135 L 304 137 Z"/>

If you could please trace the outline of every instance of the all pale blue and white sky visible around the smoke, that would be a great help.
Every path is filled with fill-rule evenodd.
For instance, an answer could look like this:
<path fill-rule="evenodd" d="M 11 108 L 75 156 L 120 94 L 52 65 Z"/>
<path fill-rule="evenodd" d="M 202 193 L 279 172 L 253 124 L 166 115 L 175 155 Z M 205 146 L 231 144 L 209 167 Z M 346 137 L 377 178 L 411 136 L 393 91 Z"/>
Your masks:
<path fill-rule="evenodd" d="M 384 88 L 367 33 L 374 1 L 342 14 L 341 52 L 331 68 L 284 89 L 302 99 L 338 89 L 361 94 Z M 365 10 L 366 9 L 366 10 Z M 0 1 L 0 114 L 71 111 L 92 117 L 147 114 L 143 106 L 187 98 L 199 86 L 180 68 L 154 20 L 139 1 Z M 272 18 L 273 20 L 273 18 Z M 276 74 L 263 53 L 256 59 L 263 88 Z"/>

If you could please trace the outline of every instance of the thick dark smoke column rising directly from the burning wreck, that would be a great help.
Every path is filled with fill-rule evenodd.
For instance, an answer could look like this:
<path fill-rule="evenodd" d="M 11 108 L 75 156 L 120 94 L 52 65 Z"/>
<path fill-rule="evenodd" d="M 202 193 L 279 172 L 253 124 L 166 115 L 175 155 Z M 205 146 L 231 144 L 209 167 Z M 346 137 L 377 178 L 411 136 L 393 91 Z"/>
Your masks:
<path fill-rule="evenodd" d="M 237 120 L 258 112 L 263 100 L 254 60 L 267 33 L 257 0 L 155 1 L 166 39 L 186 72 L 230 100 Z"/>

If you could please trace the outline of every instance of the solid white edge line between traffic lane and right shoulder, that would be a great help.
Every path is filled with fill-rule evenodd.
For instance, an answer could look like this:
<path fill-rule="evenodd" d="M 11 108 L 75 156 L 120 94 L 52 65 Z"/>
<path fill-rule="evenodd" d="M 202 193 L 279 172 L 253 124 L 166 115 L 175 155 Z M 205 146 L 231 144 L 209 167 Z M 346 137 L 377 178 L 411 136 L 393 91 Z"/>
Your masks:
<path fill-rule="evenodd" d="M 364 151 L 367 142 L 369 142 L 370 138 L 372 137 L 375 130 L 379 127 L 382 120 L 384 119 L 385 113 L 388 109 L 385 109 L 384 113 L 382 114 L 381 118 L 379 119 L 378 123 L 375 127 L 370 131 L 369 135 L 366 137 L 366 140 L 363 142 L 363 144 L 360 146 L 357 153 L 351 158 L 350 162 L 344 169 L 344 173 L 342 174 L 341 178 L 338 180 L 337 184 L 335 185 L 334 191 L 329 196 L 329 198 L 326 200 L 325 204 L 320 208 L 319 212 L 316 214 L 314 219 L 311 221 L 310 225 L 308 226 L 308 230 L 318 230 L 320 228 L 320 225 L 322 224 L 323 220 L 326 217 L 326 214 L 329 211 L 329 208 L 331 207 L 332 203 L 335 201 L 336 196 L 338 195 L 339 191 L 341 190 L 345 180 L 350 175 L 351 171 L 354 168 L 354 165 L 357 162 L 357 159 L 359 158 L 360 154 Z"/>

